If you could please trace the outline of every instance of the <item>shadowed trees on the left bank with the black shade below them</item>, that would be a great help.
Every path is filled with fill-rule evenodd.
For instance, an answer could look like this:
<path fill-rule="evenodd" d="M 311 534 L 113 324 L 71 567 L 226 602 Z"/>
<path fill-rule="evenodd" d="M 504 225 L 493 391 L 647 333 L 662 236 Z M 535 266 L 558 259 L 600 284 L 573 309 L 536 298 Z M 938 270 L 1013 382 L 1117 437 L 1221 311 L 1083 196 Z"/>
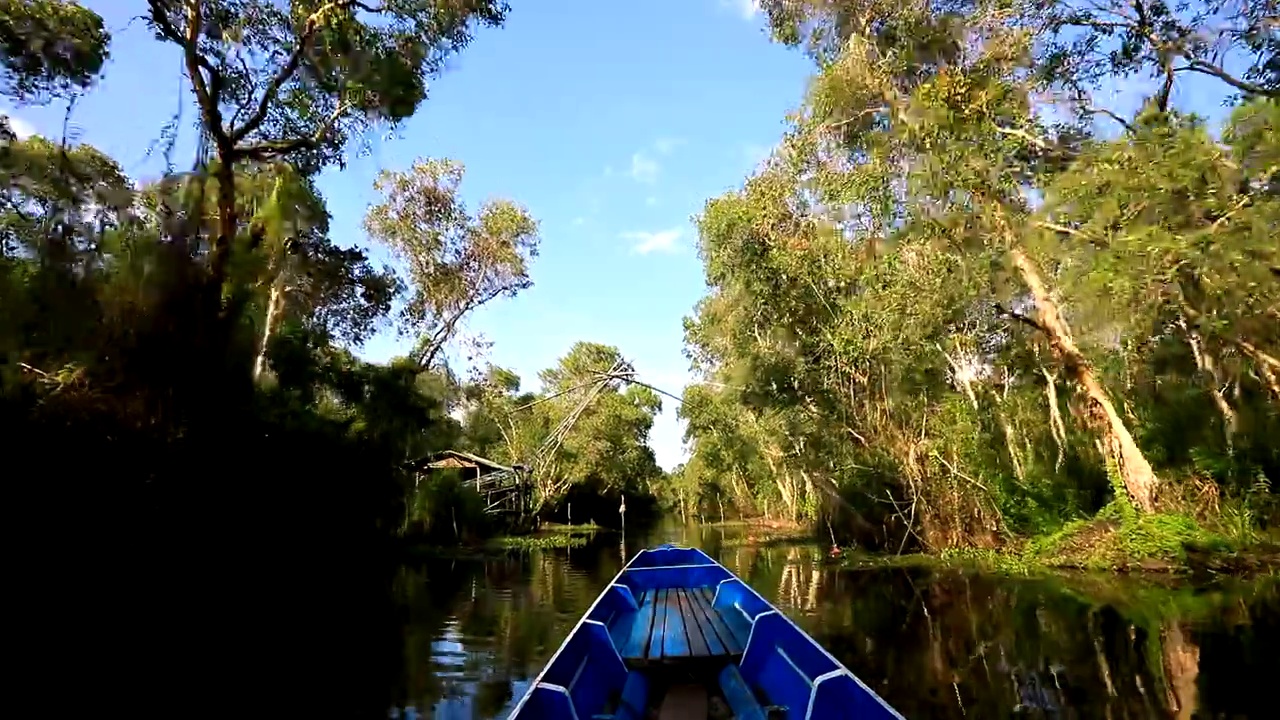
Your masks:
<path fill-rule="evenodd" d="M 411 117 L 504 4 L 138 6 L 184 61 L 198 108 L 189 169 L 138 182 L 72 137 L 0 123 L 0 427 L 5 507 L 26 543 L 14 582 L 27 666 L 54 682 L 72 648 L 99 669 L 77 680 L 95 703 L 137 701 L 147 678 L 146 707 L 169 714 L 242 694 L 305 714 L 291 683 L 337 680 L 376 652 L 351 619 L 385 610 L 397 538 L 500 529 L 456 478 L 420 482 L 411 461 L 470 448 L 535 465 L 547 516 L 580 484 L 612 493 L 616 511 L 618 493 L 644 495 L 659 473 L 659 402 L 623 387 L 617 350 L 593 343 L 567 348 L 538 396 L 508 372 L 451 366 L 476 341 L 465 319 L 530 286 L 539 241 L 517 204 L 467 208 L 461 164 L 422 159 L 378 179 L 365 246 L 394 266 L 330 232 L 316 176 L 366 131 Z M 73 111 L 110 49 L 76 3 L 0 0 L 10 102 Z M 172 145 L 178 122 L 156 136 Z M 388 327 L 412 351 L 360 359 Z M 113 671 L 125 666 L 132 679 Z M 215 678 L 234 692 L 207 697 Z"/>

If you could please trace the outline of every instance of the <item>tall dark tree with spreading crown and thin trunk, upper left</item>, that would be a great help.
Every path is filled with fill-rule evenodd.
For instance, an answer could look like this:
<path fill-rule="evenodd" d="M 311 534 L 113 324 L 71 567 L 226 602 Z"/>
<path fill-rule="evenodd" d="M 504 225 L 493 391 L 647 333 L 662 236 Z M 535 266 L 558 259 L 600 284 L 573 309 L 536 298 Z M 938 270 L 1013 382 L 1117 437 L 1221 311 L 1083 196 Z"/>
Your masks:
<path fill-rule="evenodd" d="M 148 0 L 160 40 L 182 49 L 201 126 L 218 163 L 212 279 L 225 277 L 239 228 L 242 161 L 288 160 L 310 173 L 342 160 L 374 123 L 396 124 L 475 24 L 498 26 L 504 3 L 477 0 Z"/>

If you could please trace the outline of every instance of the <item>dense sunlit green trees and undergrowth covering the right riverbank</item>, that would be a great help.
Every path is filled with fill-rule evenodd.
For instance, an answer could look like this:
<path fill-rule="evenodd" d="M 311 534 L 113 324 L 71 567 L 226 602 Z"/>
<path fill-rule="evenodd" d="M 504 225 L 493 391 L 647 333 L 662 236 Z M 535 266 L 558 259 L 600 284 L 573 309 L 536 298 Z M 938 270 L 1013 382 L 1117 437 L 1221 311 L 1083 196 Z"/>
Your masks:
<path fill-rule="evenodd" d="M 681 502 L 892 550 L 1265 525 L 1275 4 L 762 5 L 817 73 L 698 219 Z"/>

